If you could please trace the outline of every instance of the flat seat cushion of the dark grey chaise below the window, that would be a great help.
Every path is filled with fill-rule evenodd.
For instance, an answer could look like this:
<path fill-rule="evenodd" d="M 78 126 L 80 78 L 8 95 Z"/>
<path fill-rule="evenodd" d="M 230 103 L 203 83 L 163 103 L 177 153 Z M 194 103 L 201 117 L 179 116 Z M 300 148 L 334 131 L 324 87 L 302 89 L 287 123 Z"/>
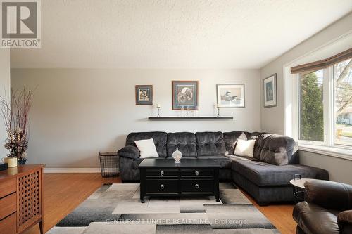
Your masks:
<path fill-rule="evenodd" d="M 302 178 L 329 179 L 324 169 L 291 164 L 277 166 L 260 161 L 232 160 L 232 170 L 244 176 L 257 186 L 289 186 L 295 174 Z"/>

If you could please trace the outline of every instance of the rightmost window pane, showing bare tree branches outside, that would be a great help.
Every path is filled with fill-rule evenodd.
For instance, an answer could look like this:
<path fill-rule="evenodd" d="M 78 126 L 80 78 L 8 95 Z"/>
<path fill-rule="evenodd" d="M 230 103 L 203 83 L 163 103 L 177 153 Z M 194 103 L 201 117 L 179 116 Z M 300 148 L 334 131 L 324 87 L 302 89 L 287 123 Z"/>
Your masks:
<path fill-rule="evenodd" d="M 352 146 L 352 60 L 333 67 L 334 143 Z"/>

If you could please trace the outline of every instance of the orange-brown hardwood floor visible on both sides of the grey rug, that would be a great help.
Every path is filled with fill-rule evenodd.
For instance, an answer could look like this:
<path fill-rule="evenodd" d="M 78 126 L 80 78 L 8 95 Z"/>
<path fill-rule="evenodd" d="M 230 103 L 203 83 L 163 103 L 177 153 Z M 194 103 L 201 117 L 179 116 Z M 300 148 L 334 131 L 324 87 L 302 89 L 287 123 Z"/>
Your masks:
<path fill-rule="evenodd" d="M 101 174 L 44 174 L 44 231 L 56 225 L 73 211 L 103 183 L 121 183 L 120 178 L 102 178 Z M 294 234 L 296 224 L 292 219 L 292 204 L 275 204 L 259 207 L 246 197 L 279 229 L 282 234 Z M 26 234 L 39 233 L 34 226 Z"/>

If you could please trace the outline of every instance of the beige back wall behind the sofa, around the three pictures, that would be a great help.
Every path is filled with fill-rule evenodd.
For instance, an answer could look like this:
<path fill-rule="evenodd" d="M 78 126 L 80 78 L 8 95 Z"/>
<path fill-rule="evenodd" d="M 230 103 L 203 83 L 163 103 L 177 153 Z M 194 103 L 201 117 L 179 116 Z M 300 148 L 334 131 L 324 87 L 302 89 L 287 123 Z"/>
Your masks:
<path fill-rule="evenodd" d="M 11 85 L 38 86 L 30 114 L 30 164 L 99 167 L 99 150 L 118 150 L 131 131 L 258 131 L 258 70 L 12 69 Z M 216 84 L 245 84 L 246 108 L 221 109 L 234 121 L 150 122 L 135 105 L 134 85 L 153 84 L 161 114 L 172 111 L 172 80 L 199 80 L 199 115 L 214 116 Z"/>

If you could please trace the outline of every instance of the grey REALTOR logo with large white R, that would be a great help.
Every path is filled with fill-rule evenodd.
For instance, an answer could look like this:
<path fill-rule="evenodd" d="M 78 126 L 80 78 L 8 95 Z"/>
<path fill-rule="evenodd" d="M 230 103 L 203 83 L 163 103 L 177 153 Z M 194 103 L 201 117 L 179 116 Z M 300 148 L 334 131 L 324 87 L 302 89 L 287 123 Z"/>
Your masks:
<path fill-rule="evenodd" d="M 1 48 L 40 48 L 40 1 L 0 1 Z"/>

